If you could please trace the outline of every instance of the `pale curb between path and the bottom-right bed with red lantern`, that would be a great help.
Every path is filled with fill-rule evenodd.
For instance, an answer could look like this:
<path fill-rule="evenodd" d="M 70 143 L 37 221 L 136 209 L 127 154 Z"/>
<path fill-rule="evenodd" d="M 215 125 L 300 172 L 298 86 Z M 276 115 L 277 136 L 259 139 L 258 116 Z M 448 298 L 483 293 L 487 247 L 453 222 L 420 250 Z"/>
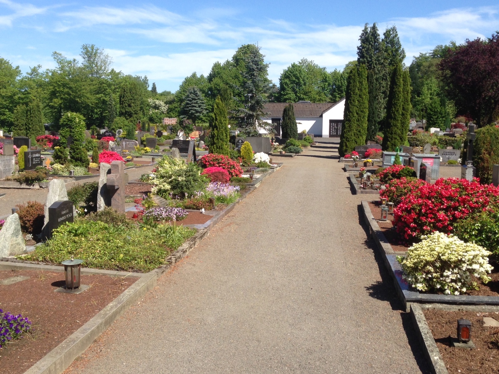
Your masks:
<path fill-rule="evenodd" d="M 414 323 L 421 347 L 430 364 L 433 374 L 449 374 L 444 360 L 440 355 L 437 344 L 433 339 L 432 331 L 426 322 L 425 315 L 418 304 L 411 305 L 411 319 Z"/>

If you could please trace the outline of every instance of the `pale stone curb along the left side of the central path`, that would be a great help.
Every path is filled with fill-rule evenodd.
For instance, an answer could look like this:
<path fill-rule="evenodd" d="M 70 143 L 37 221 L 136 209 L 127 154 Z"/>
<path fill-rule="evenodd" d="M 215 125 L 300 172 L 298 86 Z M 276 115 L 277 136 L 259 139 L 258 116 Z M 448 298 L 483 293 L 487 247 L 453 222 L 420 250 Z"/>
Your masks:
<path fill-rule="evenodd" d="M 279 168 L 272 169 L 266 176 L 274 173 Z M 262 178 L 263 180 L 264 178 Z M 238 201 L 228 205 L 211 224 L 186 240 L 175 252 L 166 258 L 166 265 L 152 270 L 148 273 L 129 273 L 112 270 L 100 270 L 83 268 L 82 274 L 101 274 L 110 276 L 135 276 L 139 279 L 121 293 L 116 299 L 111 301 L 93 318 L 87 321 L 83 326 L 67 337 L 62 343 L 51 350 L 47 355 L 41 358 L 36 364 L 29 368 L 24 374 L 60 374 L 67 369 L 75 358 L 83 354 L 86 349 L 97 339 L 121 314 L 123 314 L 131 305 L 156 285 L 157 279 L 180 259 L 185 257 L 194 247 L 205 238 L 210 229 L 231 212 L 236 204 L 248 196 L 255 187 L 241 196 Z M 64 271 L 62 266 L 45 265 L 27 261 L 16 260 L 13 258 L 1 258 L 0 269 L 25 269 L 25 270 L 49 270 Z"/>

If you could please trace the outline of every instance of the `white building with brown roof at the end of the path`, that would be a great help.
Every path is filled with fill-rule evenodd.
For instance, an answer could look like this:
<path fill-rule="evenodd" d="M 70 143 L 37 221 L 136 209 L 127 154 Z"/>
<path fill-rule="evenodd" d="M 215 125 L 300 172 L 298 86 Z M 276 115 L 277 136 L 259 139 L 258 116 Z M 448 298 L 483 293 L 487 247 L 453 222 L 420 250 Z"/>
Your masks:
<path fill-rule="evenodd" d="M 281 135 L 280 124 L 284 107 L 290 103 L 267 103 L 265 112 L 267 117 L 261 120 L 274 124 L 276 136 Z M 315 137 L 335 138 L 341 135 L 343 129 L 343 112 L 345 99 L 337 103 L 311 103 L 299 101 L 292 103 L 298 133 L 306 130 L 307 134 Z"/>

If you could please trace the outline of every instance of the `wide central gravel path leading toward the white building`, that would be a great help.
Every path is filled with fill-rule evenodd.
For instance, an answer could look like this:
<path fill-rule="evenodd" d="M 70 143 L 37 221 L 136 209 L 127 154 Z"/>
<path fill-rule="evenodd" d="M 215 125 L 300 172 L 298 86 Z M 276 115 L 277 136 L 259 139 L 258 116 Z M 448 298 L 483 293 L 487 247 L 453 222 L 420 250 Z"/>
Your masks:
<path fill-rule="evenodd" d="M 284 159 L 67 374 L 429 373 L 337 143 L 319 141 Z"/>

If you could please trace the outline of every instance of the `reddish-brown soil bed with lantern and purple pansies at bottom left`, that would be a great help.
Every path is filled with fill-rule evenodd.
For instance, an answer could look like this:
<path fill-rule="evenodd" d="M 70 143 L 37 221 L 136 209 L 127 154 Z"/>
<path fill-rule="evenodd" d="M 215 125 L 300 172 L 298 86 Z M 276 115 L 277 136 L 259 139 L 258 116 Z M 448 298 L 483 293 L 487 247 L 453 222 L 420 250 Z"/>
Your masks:
<path fill-rule="evenodd" d="M 13 276 L 29 279 L 0 285 L 0 309 L 27 317 L 32 332 L 0 349 L 5 374 L 24 373 L 138 279 L 82 275 L 81 284 L 90 288 L 73 295 L 54 292 L 65 284 L 63 272 L 0 271 L 0 280 Z"/>

